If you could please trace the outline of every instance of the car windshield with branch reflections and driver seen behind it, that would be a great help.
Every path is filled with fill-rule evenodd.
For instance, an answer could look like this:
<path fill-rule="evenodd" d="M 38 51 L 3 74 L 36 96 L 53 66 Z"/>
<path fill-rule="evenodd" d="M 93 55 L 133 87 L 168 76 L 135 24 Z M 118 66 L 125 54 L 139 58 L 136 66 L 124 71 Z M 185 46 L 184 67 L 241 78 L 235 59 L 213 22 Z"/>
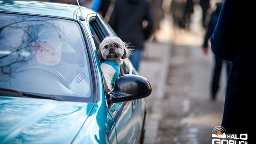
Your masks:
<path fill-rule="evenodd" d="M 0 19 L 0 88 L 90 97 L 90 66 L 78 23 L 16 14 Z"/>

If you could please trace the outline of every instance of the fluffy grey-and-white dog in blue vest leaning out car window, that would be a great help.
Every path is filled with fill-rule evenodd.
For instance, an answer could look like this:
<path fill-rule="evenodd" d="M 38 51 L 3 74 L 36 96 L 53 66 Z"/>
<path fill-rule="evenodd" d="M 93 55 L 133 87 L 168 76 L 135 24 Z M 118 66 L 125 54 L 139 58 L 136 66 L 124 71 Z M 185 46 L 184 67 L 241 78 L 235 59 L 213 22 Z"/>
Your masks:
<path fill-rule="evenodd" d="M 109 90 L 120 73 L 123 59 L 131 54 L 128 44 L 117 36 L 107 36 L 99 45 L 97 52 L 101 64 L 101 71 L 107 82 Z"/>

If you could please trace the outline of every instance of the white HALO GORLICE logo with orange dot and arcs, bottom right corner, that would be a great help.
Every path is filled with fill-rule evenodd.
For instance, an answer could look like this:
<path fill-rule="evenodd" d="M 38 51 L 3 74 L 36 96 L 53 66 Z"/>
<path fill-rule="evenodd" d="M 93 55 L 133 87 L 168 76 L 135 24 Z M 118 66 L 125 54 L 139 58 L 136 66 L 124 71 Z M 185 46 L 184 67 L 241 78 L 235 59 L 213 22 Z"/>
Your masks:
<path fill-rule="evenodd" d="M 212 130 L 211 144 L 248 144 L 247 134 L 227 134 L 224 127 L 216 126 Z"/>

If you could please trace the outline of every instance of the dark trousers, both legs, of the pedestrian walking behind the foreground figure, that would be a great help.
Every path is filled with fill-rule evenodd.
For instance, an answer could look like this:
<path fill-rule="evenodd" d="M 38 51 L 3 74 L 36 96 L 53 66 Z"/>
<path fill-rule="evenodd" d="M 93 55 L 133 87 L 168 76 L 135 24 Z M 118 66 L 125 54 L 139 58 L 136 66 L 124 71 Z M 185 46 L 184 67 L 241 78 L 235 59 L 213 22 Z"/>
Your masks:
<path fill-rule="evenodd" d="M 215 58 L 215 66 L 213 70 L 212 83 L 211 83 L 211 96 L 215 98 L 216 93 L 219 90 L 219 77 L 220 77 L 222 62 L 224 60 L 222 60 L 216 55 L 214 56 L 214 58 Z M 226 61 L 226 66 L 227 66 L 227 76 L 229 76 L 232 62 Z"/>

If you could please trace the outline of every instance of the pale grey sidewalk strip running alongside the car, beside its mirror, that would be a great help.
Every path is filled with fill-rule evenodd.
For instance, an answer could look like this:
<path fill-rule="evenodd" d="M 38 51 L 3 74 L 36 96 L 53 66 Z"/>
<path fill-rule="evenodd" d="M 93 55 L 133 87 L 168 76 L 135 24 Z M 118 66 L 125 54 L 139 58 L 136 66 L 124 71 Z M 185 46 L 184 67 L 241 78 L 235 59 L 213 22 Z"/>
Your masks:
<path fill-rule="evenodd" d="M 171 45 L 148 42 L 140 65 L 140 75 L 146 77 L 152 86 L 152 93 L 146 98 L 147 117 L 144 144 L 155 144 L 159 120 L 162 117 L 160 101 L 164 96 Z"/>

